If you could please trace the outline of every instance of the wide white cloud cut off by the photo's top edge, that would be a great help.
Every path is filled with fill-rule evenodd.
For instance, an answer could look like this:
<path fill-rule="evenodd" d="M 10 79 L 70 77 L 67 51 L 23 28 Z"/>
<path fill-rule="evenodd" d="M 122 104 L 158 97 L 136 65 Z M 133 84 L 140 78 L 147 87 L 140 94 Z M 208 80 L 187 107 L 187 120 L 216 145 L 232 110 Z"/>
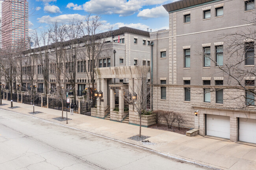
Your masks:
<path fill-rule="evenodd" d="M 161 4 L 166 0 L 90 0 L 83 4 L 83 9 L 96 14 L 133 15 L 144 5 Z"/>

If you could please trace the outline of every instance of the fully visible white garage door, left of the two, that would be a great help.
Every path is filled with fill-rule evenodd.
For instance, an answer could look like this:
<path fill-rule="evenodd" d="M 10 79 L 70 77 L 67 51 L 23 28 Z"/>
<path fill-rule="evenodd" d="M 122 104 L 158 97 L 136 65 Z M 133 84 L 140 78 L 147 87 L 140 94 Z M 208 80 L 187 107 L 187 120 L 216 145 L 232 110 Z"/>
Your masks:
<path fill-rule="evenodd" d="M 230 118 L 206 115 L 206 135 L 230 139 Z"/>

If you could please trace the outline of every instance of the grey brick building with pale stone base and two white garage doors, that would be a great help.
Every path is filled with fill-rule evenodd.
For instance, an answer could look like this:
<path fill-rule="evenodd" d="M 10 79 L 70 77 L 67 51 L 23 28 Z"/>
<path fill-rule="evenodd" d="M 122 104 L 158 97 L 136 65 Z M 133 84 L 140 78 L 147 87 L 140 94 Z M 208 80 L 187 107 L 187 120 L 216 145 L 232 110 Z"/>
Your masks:
<path fill-rule="evenodd" d="M 200 135 L 256 143 L 255 95 L 232 88 L 237 82 L 219 68 L 230 62 L 227 37 L 221 35 L 251 28 L 247 20 L 255 15 L 254 0 L 180 0 L 163 7 L 169 12 L 169 30 L 150 33 L 153 110 L 183 113 L 184 126 L 199 129 Z M 255 70 L 254 47 L 247 48 L 252 41 L 241 41 L 241 69 Z M 255 76 L 240 78 L 254 90 Z"/>

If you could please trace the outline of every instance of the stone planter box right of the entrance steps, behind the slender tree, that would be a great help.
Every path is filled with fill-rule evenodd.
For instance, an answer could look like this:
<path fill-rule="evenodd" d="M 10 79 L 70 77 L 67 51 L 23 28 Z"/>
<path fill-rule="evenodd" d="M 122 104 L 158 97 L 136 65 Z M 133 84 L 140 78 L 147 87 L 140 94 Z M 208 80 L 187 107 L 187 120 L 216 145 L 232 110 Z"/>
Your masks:
<path fill-rule="evenodd" d="M 129 124 L 139 125 L 139 115 L 134 111 L 129 112 Z M 141 126 L 148 127 L 153 124 L 156 124 L 155 115 L 143 115 L 141 117 Z"/>

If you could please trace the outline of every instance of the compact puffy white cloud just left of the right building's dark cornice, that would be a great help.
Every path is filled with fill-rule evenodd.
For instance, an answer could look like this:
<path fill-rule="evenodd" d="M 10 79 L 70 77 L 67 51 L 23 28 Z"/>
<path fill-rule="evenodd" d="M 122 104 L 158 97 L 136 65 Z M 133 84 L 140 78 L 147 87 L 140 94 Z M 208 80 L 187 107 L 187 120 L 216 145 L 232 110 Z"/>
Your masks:
<path fill-rule="evenodd" d="M 143 9 L 137 16 L 142 19 L 168 17 L 168 12 L 163 6 L 158 6 L 151 9 Z"/>

